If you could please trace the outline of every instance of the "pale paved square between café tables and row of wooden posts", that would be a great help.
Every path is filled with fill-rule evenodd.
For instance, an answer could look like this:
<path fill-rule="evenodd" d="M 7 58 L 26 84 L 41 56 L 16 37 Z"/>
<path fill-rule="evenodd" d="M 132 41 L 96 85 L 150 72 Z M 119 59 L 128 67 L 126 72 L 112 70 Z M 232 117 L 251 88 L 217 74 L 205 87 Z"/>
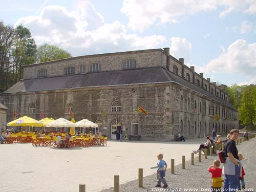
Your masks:
<path fill-rule="evenodd" d="M 55 149 L 33 147 L 28 144 L 0 145 L 1 191 L 17 192 L 76 192 L 79 183 L 86 183 L 86 191 L 100 191 L 113 186 L 114 175 L 120 184 L 138 177 L 152 175 L 157 154 L 164 159 L 181 163 L 182 155 L 190 157 L 205 139 L 186 142 L 109 141 L 108 146 Z"/>

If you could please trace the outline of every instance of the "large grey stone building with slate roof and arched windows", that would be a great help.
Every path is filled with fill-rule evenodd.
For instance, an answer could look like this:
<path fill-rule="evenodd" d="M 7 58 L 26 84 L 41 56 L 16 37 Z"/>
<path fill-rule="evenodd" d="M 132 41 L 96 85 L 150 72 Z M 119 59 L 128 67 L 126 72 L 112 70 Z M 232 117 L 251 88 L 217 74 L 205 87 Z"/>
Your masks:
<path fill-rule="evenodd" d="M 143 140 L 172 140 L 179 132 L 204 137 L 238 128 L 238 112 L 228 95 L 203 73 L 169 54 L 169 48 L 79 56 L 24 67 L 24 79 L 0 94 L 19 116 L 87 118 L 104 134 L 115 138 L 123 127 L 127 135 Z M 147 115 L 138 112 L 138 106 Z"/>

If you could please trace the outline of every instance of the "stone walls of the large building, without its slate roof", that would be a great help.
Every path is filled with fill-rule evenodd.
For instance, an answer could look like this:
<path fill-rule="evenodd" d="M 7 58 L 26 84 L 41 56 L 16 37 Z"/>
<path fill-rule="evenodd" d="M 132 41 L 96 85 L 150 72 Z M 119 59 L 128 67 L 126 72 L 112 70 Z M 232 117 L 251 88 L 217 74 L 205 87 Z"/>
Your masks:
<path fill-rule="evenodd" d="M 37 78 L 37 71 L 40 69 L 47 69 L 47 78 L 63 76 L 66 67 L 72 66 L 78 69 L 80 65 L 86 66 L 87 70 L 84 74 L 86 76 L 92 63 L 100 63 L 101 71 L 106 72 L 122 70 L 122 61 L 133 59 L 136 60 L 136 69 L 132 70 L 161 68 L 163 71 L 167 70 L 168 73 L 163 74 L 166 74 L 169 80 L 41 91 L 15 92 L 13 91 L 15 89 L 10 89 L 11 92 L 7 90 L 0 94 L 0 99 L 9 108 L 8 122 L 12 120 L 14 110 L 18 111 L 20 116 L 28 115 L 37 120 L 40 119 L 41 110 L 47 117 L 70 119 L 68 106 L 72 104 L 72 112 L 77 121 L 87 118 L 93 122 L 102 122 L 102 127 L 106 127 L 102 129 L 102 133 L 104 132 L 109 138 L 113 137 L 113 122 L 114 125 L 125 127 L 124 133 L 127 135 L 132 134 L 132 122 L 136 122 L 138 134 L 143 140 L 159 141 L 173 140 L 179 132 L 185 137 L 194 138 L 205 137 L 211 133 L 213 127 L 216 127 L 220 134 L 237 128 L 238 113 L 228 104 L 227 94 L 209 79 L 204 79 L 203 74 L 197 74 L 193 67 L 185 66 L 184 59 L 177 60 L 170 56 L 168 50 L 165 48 L 81 56 L 26 66 L 24 79 Z M 172 73 L 173 66 L 178 68 L 178 75 L 182 77 L 180 80 Z M 190 76 L 189 82 L 185 80 L 187 73 Z M 98 73 L 100 74 L 101 72 Z M 200 81 L 200 86 L 195 87 L 196 80 Z M 204 90 L 205 84 L 206 90 Z M 214 89 L 212 93 L 211 88 Z M 207 91 L 209 96 L 201 94 L 200 90 Z M 223 100 L 220 95 L 217 96 L 217 92 L 225 96 Z M 115 101 L 121 106 L 118 112 L 112 110 Z M 32 104 L 35 111 L 31 112 Z M 142 106 L 148 115 L 139 113 L 138 106 Z M 217 114 L 219 119 L 216 118 Z"/>

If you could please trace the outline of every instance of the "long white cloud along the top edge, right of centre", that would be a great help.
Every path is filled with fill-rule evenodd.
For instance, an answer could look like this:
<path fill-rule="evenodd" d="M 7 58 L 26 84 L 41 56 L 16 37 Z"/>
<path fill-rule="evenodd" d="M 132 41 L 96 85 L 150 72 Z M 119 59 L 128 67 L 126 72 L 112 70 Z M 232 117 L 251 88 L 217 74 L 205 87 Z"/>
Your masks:
<path fill-rule="evenodd" d="M 225 17 L 232 11 L 242 11 L 248 14 L 256 13 L 254 0 L 123 0 L 121 12 L 129 17 L 129 27 L 142 31 L 155 23 L 177 23 L 182 16 L 193 15 L 202 11 L 220 12 L 220 17 Z"/>

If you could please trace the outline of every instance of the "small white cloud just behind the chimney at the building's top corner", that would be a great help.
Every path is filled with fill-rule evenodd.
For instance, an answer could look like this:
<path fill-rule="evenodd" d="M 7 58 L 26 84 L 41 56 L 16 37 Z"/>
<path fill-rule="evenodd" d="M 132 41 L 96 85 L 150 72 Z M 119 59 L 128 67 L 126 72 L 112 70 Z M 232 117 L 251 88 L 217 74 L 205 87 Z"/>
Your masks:
<path fill-rule="evenodd" d="M 170 38 L 170 54 L 176 58 L 190 59 L 192 45 L 185 38 Z"/>

